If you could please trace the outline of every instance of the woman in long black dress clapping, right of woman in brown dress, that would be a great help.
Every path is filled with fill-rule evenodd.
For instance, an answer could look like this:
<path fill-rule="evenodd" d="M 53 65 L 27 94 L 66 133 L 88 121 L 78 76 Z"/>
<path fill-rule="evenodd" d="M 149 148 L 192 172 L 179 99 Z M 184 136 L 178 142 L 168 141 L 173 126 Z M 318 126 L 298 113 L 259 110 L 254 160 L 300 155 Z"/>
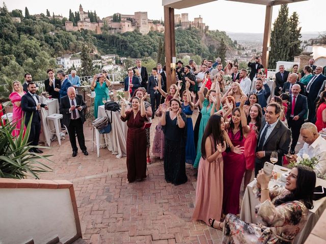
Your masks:
<path fill-rule="evenodd" d="M 165 135 L 165 179 L 174 185 L 181 185 L 187 181 L 185 174 L 186 116 L 181 112 L 181 104 L 177 99 L 171 99 L 169 108 L 161 106 L 161 111 L 160 123 Z"/>

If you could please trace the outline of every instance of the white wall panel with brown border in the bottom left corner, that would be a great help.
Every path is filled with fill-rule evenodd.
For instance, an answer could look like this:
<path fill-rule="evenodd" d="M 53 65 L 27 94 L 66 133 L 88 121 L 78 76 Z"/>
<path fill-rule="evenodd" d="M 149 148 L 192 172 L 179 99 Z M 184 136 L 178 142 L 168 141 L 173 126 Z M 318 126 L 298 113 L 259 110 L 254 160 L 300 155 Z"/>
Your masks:
<path fill-rule="evenodd" d="M 69 189 L 0 189 L 0 243 L 56 236 L 66 242 L 77 234 Z"/>

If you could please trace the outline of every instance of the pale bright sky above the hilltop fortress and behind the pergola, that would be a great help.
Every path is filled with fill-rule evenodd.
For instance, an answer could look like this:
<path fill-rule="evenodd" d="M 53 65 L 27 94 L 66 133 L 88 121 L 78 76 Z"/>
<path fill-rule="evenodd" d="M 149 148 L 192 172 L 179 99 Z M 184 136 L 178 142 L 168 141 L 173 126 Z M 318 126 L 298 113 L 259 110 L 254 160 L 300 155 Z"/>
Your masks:
<path fill-rule="evenodd" d="M 196 1 L 196 0 L 193 0 Z M 161 0 L 106 0 L 106 1 L 86 1 L 86 0 L 5 0 L 9 11 L 21 9 L 24 14 L 25 7 L 28 7 L 30 14 L 46 13 L 46 9 L 52 14 L 62 14 L 69 16 L 69 9 L 72 12 L 78 11 L 79 4 L 82 4 L 84 11 L 96 10 L 100 17 L 113 15 L 114 13 L 133 14 L 134 12 L 148 12 L 149 19 L 164 18 L 164 10 Z M 288 5 L 289 15 L 296 11 L 299 15 L 302 33 L 326 31 L 324 14 L 326 10 L 326 0 L 308 0 L 304 2 L 292 3 Z M 209 25 L 210 30 L 235 33 L 263 33 L 265 21 L 265 6 L 255 4 L 244 4 L 231 1 L 218 0 L 199 6 L 175 9 L 175 14 L 188 13 L 189 20 L 195 17 L 203 17 L 203 22 Z M 276 19 L 280 6 L 273 7 L 273 20 Z"/>

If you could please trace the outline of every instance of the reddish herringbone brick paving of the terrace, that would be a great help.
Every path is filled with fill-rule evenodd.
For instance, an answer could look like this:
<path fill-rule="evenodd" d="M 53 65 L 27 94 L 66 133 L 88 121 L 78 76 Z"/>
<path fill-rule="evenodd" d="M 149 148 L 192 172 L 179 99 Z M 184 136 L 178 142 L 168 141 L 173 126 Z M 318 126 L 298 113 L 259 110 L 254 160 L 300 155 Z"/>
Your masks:
<path fill-rule="evenodd" d="M 191 221 L 196 197 L 191 166 L 186 166 L 188 181 L 181 186 L 165 182 L 160 160 L 148 165 L 146 180 L 126 184 L 126 158 L 117 159 L 107 149 L 100 149 L 97 158 L 96 148 L 91 152 L 91 133 L 86 123 L 89 156 L 79 150 L 72 158 L 69 138 L 61 146 L 53 141 L 51 149 L 44 149 L 53 155 L 53 171 L 40 175 L 73 182 L 83 233 L 75 243 L 221 243 L 221 231 Z"/>

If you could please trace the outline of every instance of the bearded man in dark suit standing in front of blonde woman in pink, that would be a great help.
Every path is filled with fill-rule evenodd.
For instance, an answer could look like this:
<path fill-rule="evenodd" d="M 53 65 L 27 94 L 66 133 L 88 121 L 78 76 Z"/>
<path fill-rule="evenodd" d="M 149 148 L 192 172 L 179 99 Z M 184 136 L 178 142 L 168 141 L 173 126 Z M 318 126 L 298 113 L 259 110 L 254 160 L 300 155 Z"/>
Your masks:
<path fill-rule="evenodd" d="M 35 147 L 31 148 L 29 151 L 42 154 L 41 151 L 36 146 L 39 144 L 40 132 L 41 132 L 41 117 L 40 109 L 48 109 L 47 105 L 40 103 L 39 96 L 36 94 L 36 84 L 30 82 L 28 85 L 28 93 L 21 97 L 21 109 L 24 111 L 25 116 L 25 126 L 27 127 L 30 119 L 32 118 L 31 130 L 28 142 L 30 145 Z"/>

